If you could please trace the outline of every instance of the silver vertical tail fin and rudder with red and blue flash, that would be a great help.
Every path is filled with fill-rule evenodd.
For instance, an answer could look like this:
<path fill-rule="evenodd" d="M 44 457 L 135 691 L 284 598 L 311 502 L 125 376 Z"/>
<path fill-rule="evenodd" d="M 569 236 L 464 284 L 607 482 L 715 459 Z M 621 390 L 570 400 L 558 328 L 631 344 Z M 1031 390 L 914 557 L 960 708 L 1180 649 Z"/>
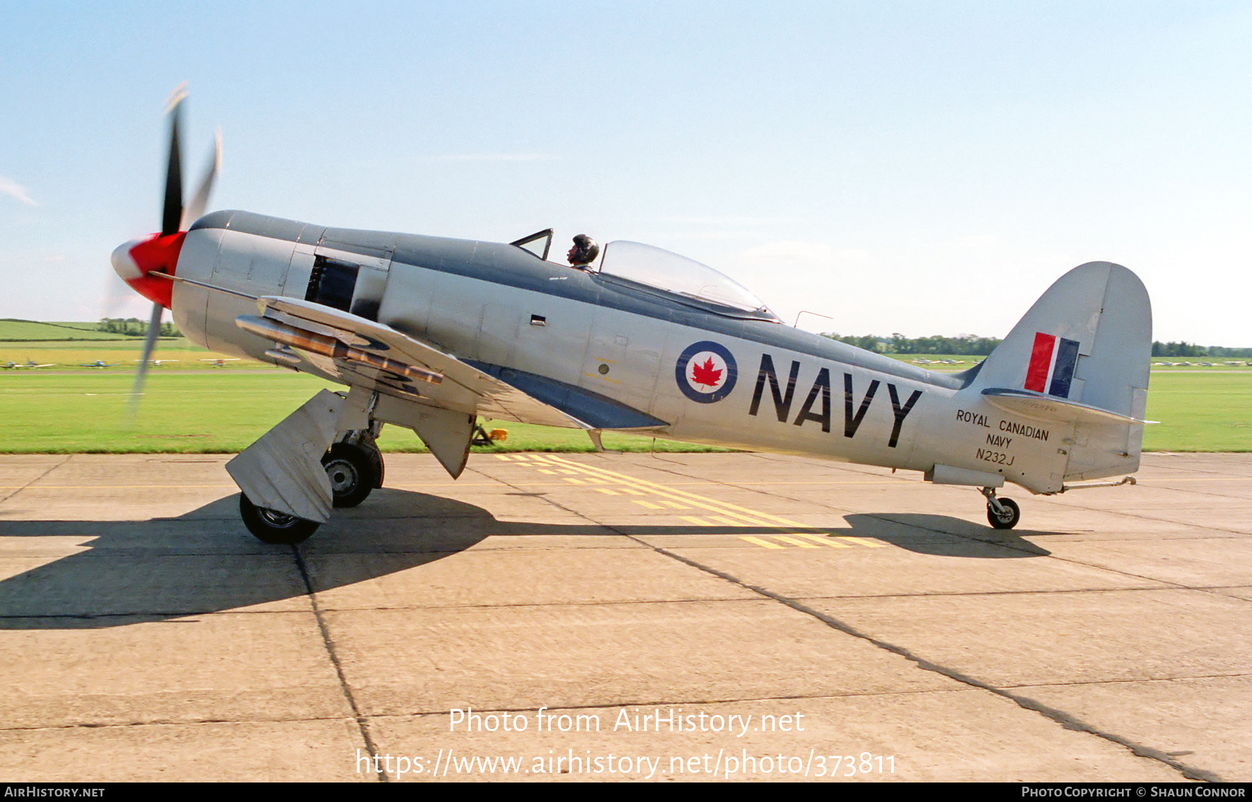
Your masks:
<path fill-rule="evenodd" d="M 1090 261 L 1060 277 L 970 375 L 1022 418 L 1073 424 L 1065 479 L 1138 469 L 1152 307 L 1137 275 Z"/>

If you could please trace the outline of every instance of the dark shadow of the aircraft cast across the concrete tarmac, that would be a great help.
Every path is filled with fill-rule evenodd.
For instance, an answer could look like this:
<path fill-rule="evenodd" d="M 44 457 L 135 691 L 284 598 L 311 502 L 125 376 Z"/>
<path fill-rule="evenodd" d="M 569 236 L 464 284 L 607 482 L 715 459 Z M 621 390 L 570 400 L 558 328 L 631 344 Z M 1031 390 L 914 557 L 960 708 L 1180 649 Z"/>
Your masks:
<path fill-rule="evenodd" d="M 846 515 L 848 528 L 760 525 L 597 525 L 498 520 L 473 504 L 409 490 L 378 490 L 299 547 L 267 546 L 238 518 L 229 495 L 177 518 L 151 520 L 4 522 L 10 571 L 0 581 L 0 629 L 91 629 L 283 602 L 309 588 L 376 579 L 462 552 L 483 538 L 510 536 L 754 536 L 798 532 L 873 538 L 916 553 L 967 558 L 1044 557 L 1009 532 L 959 518 L 909 513 Z M 1043 533 L 1029 533 L 1043 534 Z M 49 549 L 43 538 L 55 538 Z M 746 546 L 746 544 L 745 544 Z M 48 559 L 50 551 L 74 551 Z M 776 552 L 775 552 L 776 553 Z M 280 609 L 302 609 L 282 606 Z M 307 609 L 303 608 L 303 609 Z"/>

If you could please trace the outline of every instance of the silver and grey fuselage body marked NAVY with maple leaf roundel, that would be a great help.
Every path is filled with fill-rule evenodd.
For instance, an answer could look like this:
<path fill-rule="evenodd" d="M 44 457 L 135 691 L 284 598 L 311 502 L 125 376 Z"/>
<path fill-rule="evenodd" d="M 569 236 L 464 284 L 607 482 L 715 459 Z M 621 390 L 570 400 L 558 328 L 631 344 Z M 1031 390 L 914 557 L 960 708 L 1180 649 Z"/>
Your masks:
<path fill-rule="evenodd" d="M 968 388 L 977 368 L 925 370 L 513 245 L 218 211 L 187 233 L 177 275 L 230 290 L 179 283 L 173 293 L 178 327 L 222 353 L 274 362 L 274 344 L 235 318 L 257 313 L 248 297 L 285 295 L 482 369 L 611 399 L 664 424 L 627 428 L 660 437 L 929 473 L 938 464 L 1033 492 L 1059 489 L 1064 473 L 1065 427 L 990 405 Z"/>

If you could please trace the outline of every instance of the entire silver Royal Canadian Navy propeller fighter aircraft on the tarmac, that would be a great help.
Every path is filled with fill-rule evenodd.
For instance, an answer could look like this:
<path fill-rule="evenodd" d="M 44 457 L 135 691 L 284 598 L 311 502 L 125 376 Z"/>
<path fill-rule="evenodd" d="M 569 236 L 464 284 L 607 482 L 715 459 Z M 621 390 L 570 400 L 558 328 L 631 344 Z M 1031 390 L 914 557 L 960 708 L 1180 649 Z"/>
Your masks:
<path fill-rule="evenodd" d="M 916 470 L 969 485 L 1010 528 L 1005 483 L 1037 494 L 1132 482 L 1152 312 L 1139 279 L 1068 272 L 1003 344 L 938 373 L 785 325 L 684 256 L 610 243 L 598 265 L 547 261 L 552 231 L 515 243 L 342 229 L 183 206 L 178 105 L 162 231 L 114 269 L 218 353 L 347 385 L 323 390 L 227 464 L 248 529 L 297 543 L 383 482 L 383 424 L 412 429 L 452 475 L 477 419 L 507 419 Z M 150 337 L 144 359 L 151 357 Z M 143 367 L 140 375 L 143 379 Z M 1121 480 L 1093 482 L 1108 477 Z"/>

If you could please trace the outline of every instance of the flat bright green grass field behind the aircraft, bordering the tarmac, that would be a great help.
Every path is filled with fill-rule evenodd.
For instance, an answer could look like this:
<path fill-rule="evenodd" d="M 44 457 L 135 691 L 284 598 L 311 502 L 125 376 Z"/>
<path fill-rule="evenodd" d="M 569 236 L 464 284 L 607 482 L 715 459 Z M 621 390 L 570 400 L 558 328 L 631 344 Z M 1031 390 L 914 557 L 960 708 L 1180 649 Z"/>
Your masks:
<path fill-rule="evenodd" d="M 322 387 L 309 375 L 255 363 L 215 370 L 153 369 L 133 423 L 129 368 L 0 372 L 0 453 L 230 453 L 245 448 Z M 1252 452 L 1252 370 L 1153 372 L 1146 450 Z M 501 422 L 508 440 L 477 450 L 591 450 L 586 434 Z M 412 432 L 387 427 L 386 450 L 421 452 Z M 617 450 L 651 438 L 606 434 Z M 710 450 L 656 440 L 657 450 Z"/>

